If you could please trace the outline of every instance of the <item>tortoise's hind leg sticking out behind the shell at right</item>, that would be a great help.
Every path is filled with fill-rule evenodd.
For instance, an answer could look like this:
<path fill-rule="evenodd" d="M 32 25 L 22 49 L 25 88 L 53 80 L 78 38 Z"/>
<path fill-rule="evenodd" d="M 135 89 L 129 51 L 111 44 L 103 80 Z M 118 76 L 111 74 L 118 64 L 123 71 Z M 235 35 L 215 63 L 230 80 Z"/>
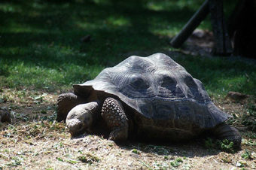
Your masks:
<path fill-rule="evenodd" d="M 213 135 L 218 139 L 227 139 L 228 141 L 233 141 L 235 146 L 240 146 L 242 137 L 238 130 L 233 126 L 227 125 L 226 123 L 221 123 L 213 129 Z"/>

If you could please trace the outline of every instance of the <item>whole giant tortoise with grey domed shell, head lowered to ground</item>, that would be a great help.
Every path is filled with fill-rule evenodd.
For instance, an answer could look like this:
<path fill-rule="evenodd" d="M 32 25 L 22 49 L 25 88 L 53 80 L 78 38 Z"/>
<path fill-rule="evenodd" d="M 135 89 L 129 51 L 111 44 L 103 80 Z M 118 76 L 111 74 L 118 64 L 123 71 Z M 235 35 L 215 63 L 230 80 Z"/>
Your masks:
<path fill-rule="evenodd" d="M 163 53 L 130 56 L 73 87 L 57 100 L 57 120 L 66 120 L 72 136 L 103 118 L 112 141 L 130 135 L 184 141 L 208 131 L 241 143 L 239 132 L 224 123 L 230 115 L 212 103 L 203 83 Z"/>

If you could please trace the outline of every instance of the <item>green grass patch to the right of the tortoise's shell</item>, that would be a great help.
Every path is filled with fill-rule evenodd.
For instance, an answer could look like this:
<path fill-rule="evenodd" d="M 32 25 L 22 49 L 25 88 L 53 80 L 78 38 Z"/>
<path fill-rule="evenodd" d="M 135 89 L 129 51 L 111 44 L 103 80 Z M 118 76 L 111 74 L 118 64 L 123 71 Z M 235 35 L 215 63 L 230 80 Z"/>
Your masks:
<path fill-rule="evenodd" d="M 210 96 L 224 97 L 229 91 L 256 95 L 256 66 L 249 61 L 200 56 L 179 58 L 177 61 L 203 82 Z"/>

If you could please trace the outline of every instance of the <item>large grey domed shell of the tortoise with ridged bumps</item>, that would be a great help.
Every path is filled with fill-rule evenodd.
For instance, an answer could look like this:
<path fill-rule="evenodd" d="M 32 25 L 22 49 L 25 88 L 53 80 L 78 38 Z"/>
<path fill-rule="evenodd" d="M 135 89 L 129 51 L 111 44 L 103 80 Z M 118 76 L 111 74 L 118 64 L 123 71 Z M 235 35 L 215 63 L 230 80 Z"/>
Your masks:
<path fill-rule="evenodd" d="M 136 110 L 142 131 L 154 126 L 154 133 L 157 128 L 158 133 L 175 129 L 198 135 L 230 117 L 212 103 L 200 80 L 163 53 L 130 56 L 74 88 L 80 94 L 95 90 L 117 96 Z"/>

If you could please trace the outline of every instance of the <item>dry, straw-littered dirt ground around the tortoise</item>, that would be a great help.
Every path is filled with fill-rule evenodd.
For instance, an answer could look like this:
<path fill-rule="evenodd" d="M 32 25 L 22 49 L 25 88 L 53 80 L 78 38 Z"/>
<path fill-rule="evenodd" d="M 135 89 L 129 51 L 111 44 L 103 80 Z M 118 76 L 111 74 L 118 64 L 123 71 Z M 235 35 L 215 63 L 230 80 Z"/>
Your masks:
<path fill-rule="evenodd" d="M 183 52 L 204 55 L 211 45 L 209 41 L 203 52 L 189 47 Z M 254 100 L 212 99 L 218 108 L 233 115 L 228 123 L 242 135 L 242 148 L 229 153 L 214 141 L 207 145 L 206 138 L 123 144 L 97 135 L 71 138 L 65 123 L 55 121 L 60 93 L 66 92 L 2 90 L 0 108 L 10 111 L 11 123 L 0 124 L 0 169 L 256 169 L 255 117 L 248 112 L 248 107 L 255 107 Z"/>

